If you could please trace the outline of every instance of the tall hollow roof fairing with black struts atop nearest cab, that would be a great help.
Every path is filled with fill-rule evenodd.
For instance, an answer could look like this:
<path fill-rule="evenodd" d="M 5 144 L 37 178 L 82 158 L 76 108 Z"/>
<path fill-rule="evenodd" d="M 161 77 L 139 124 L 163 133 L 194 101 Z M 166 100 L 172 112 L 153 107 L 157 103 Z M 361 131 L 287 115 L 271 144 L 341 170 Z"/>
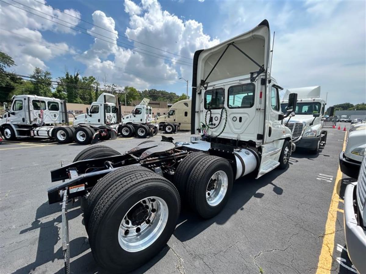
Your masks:
<path fill-rule="evenodd" d="M 263 66 L 264 71 L 267 71 L 269 51 L 269 23 L 263 20 L 252 30 L 199 53 L 197 87 L 209 82 L 249 75 L 251 72 L 259 71 L 259 66 Z"/>

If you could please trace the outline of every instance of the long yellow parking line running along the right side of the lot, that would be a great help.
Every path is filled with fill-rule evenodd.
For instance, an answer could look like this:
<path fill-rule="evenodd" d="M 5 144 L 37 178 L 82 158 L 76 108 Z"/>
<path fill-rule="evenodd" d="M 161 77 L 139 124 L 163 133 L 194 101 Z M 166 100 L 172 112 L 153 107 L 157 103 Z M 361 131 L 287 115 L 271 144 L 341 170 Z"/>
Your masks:
<path fill-rule="evenodd" d="M 347 132 L 344 135 L 343 140 L 343 149 L 346 148 L 346 137 Z M 330 201 L 329 211 L 328 211 L 328 218 L 325 223 L 325 232 L 323 237 L 323 244 L 321 247 L 319 261 L 318 261 L 318 268 L 317 274 L 328 274 L 332 268 L 332 260 L 333 260 L 333 249 L 334 249 L 334 237 L 336 231 L 336 220 L 337 220 L 337 212 L 341 209 L 338 209 L 339 203 L 339 196 L 337 194 L 337 186 L 342 179 L 342 172 L 338 165 L 337 176 L 333 188 L 332 200 Z M 342 210 L 343 211 L 343 210 Z"/>

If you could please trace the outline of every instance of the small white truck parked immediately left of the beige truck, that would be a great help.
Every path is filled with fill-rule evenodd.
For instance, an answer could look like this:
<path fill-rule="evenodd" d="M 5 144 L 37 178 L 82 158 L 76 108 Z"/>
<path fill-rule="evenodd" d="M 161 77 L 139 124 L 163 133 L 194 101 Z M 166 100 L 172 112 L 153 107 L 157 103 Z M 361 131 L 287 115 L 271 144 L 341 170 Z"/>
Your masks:
<path fill-rule="evenodd" d="M 151 123 L 152 108 L 148 106 L 149 102 L 150 99 L 143 98 L 131 114 L 122 117 L 122 125 L 119 126 L 118 130 L 122 137 L 146 138 L 158 133 L 158 125 Z"/>

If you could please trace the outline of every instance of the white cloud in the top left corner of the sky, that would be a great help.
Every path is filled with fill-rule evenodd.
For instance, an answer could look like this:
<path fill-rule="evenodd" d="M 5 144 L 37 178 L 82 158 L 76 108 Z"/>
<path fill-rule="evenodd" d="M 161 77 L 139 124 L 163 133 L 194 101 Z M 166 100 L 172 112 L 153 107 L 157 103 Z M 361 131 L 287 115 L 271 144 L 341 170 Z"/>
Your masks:
<path fill-rule="evenodd" d="M 71 24 L 78 24 L 80 22 L 80 13 L 74 9 L 65 9 L 64 12 L 75 16 L 70 17 L 62 12 L 53 9 L 51 6 L 43 5 L 45 1 L 22 1 L 22 4 L 11 2 L 17 7 L 28 10 L 34 14 L 38 14 L 42 17 L 46 17 L 51 20 L 60 18 L 68 23 L 61 22 L 66 26 L 72 27 Z M 31 9 L 33 8 L 33 9 Z M 0 7 L 0 25 L 1 30 L 1 43 L 0 50 L 6 52 L 12 56 L 17 64 L 14 69 L 18 73 L 29 74 L 33 69 L 38 66 L 42 69 L 46 69 L 45 61 L 48 61 L 56 56 L 65 54 L 65 51 L 73 52 L 70 47 L 64 43 L 50 43 L 42 37 L 41 31 L 53 31 L 56 33 L 75 34 L 75 31 L 68 27 L 60 26 L 49 20 L 41 18 L 39 16 L 30 14 L 22 9 L 16 8 L 12 5 L 8 5 L 4 2 Z M 51 16 L 39 13 L 37 11 L 44 12 Z M 8 22 L 11 22 L 9 24 Z"/>

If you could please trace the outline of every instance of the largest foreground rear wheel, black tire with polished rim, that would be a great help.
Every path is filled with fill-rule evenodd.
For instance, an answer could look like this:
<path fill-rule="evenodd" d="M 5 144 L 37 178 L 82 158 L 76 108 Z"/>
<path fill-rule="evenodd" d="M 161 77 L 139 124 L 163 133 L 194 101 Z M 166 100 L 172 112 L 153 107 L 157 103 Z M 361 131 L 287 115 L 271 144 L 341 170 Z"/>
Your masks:
<path fill-rule="evenodd" d="M 119 178 L 101 195 L 90 216 L 94 259 L 113 273 L 137 269 L 167 244 L 179 212 L 178 190 L 167 179 L 151 172 Z"/>

